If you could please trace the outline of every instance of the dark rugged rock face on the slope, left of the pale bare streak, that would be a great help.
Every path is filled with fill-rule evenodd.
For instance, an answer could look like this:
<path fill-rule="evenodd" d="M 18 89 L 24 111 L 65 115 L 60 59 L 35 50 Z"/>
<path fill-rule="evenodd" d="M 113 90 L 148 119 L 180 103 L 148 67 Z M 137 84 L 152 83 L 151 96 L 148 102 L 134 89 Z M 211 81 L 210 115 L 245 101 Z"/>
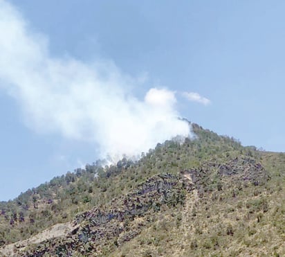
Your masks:
<path fill-rule="evenodd" d="M 151 213 L 163 205 L 176 206 L 185 200 L 185 183 L 181 176 L 156 175 L 140 184 L 131 193 L 112 200 L 109 204 L 77 215 L 75 229 L 66 238 L 46 240 L 20 256 L 71 256 L 75 251 L 84 256 L 102 253 L 110 240 L 115 245 L 131 240 L 149 221 Z M 149 218 L 139 220 L 140 217 Z"/>

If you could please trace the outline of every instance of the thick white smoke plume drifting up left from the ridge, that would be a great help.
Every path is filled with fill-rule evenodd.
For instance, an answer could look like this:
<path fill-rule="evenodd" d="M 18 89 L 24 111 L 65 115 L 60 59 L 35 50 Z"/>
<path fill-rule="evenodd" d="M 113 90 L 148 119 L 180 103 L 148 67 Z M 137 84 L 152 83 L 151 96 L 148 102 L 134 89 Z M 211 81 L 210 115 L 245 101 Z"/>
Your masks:
<path fill-rule="evenodd" d="M 136 79 L 112 62 L 53 57 L 47 38 L 3 0 L 0 31 L 0 87 L 18 101 L 31 129 L 93 141 L 101 157 L 113 159 L 190 136 L 189 125 L 177 118 L 174 91 L 152 88 L 139 100 L 130 93 Z"/>

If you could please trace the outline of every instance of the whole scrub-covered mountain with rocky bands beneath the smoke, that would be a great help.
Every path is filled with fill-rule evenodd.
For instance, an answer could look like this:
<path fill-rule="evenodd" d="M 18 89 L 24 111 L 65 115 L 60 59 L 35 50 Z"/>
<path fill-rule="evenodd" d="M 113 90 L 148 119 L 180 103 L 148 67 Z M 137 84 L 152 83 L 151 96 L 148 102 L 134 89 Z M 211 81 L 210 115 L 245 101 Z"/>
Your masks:
<path fill-rule="evenodd" d="M 192 124 L 0 203 L 0 256 L 284 256 L 285 154 Z"/>

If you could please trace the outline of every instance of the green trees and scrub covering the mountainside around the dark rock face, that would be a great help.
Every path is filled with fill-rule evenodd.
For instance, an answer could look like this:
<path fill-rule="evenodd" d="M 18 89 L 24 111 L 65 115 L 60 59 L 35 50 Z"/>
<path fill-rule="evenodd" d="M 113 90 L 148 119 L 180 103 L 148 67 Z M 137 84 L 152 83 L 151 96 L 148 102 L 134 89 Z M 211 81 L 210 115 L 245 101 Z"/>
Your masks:
<path fill-rule="evenodd" d="M 138 161 L 124 158 L 104 168 L 97 161 L 31 188 L 15 200 L 0 202 L 0 245 L 30 238 L 90 209 L 112 206 L 114 199 L 136 192 L 154 175 L 180 174 L 184 179 L 181 171 L 191 171 L 196 181 L 183 181 L 190 183 L 189 188 L 167 193 L 163 204 L 154 201 L 147 213 L 136 216 L 138 224 L 136 218 L 126 218 L 124 233 L 139 232 L 122 243 L 107 238 L 98 256 L 250 256 L 259 252 L 283 256 L 285 154 L 245 148 L 235 139 L 195 124 L 193 132 L 196 139 L 158 144 Z M 237 166 L 231 164 L 236 159 Z M 252 168 L 259 164 L 270 180 L 247 180 L 244 174 L 260 177 Z M 221 174 L 221 166 L 230 167 L 226 170 L 230 175 Z M 57 255 L 66 256 L 68 249 L 61 244 L 57 244 Z M 77 256 L 92 252 L 92 244 L 82 245 Z"/>

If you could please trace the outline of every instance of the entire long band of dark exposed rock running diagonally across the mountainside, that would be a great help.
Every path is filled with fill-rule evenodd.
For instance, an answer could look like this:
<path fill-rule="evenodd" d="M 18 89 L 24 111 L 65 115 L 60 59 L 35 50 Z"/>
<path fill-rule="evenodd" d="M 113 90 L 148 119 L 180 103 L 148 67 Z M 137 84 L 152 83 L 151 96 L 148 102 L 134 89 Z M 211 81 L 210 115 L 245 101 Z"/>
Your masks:
<path fill-rule="evenodd" d="M 131 193 L 77 215 L 67 235 L 15 249 L 14 256 L 104 256 L 104 249 L 136 237 L 164 206 L 185 204 L 185 196 L 194 189 L 198 200 L 199 194 L 223 190 L 232 182 L 257 186 L 268 179 L 260 163 L 244 157 L 223 164 L 211 161 L 178 175 L 155 175 Z"/>

